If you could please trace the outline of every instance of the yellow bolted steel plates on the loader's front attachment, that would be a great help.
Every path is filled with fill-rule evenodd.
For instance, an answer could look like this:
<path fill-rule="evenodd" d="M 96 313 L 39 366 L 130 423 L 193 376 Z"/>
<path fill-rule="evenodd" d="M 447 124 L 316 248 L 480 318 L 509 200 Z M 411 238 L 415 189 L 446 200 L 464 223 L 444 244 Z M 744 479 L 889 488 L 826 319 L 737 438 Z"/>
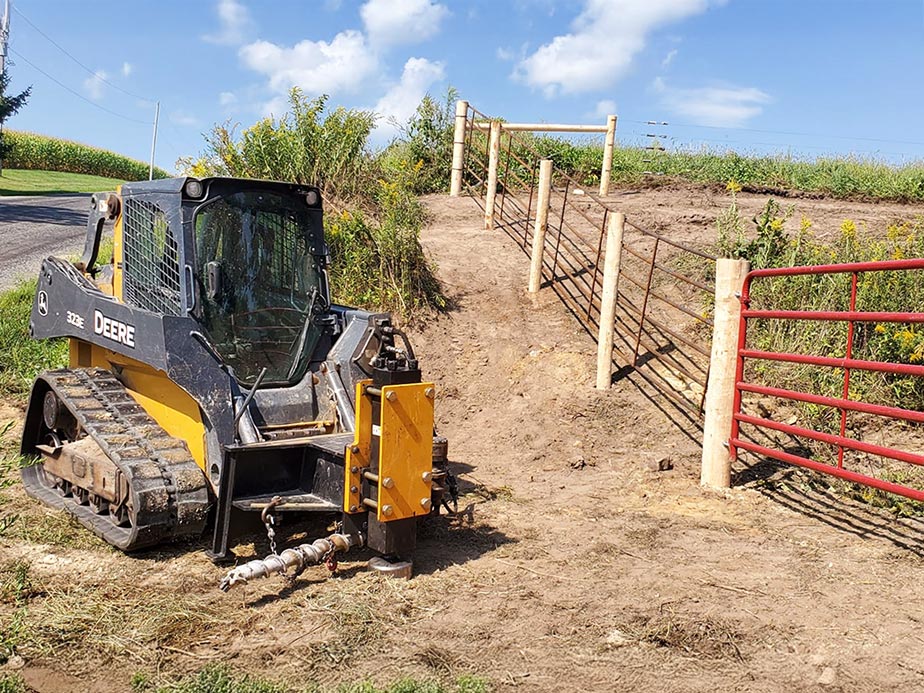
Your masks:
<path fill-rule="evenodd" d="M 365 391 L 369 382 L 358 383 L 356 388 L 356 432 L 353 445 L 347 449 L 344 511 L 364 510 L 359 489 L 364 468 L 371 462 L 372 436 L 378 435 L 376 518 L 390 522 L 428 515 L 433 474 L 433 383 L 382 387 L 381 423 L 375 430 L 370 395 Z"/>

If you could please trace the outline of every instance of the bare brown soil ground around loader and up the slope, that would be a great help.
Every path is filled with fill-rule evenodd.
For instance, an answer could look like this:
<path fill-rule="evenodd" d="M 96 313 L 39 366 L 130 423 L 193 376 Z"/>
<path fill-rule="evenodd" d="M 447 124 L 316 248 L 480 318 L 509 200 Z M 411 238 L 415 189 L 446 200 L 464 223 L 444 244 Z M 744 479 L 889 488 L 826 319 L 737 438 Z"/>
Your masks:
<path fill-rule="evenodd" d="M 727 206 L 681 187 L 619 197 L 697 242 Z M 739 196 L 755 212 L 765 199 Z M 924 211 L 794 203 L 832 231 Z M 922 523 L 760 463 L 746 485 L 702 490 L 695 423 L 636 375 L 592 389 L 595 346 L 551 291 L 526 294 L 526 256 L 481 230 L 471 200 L 427 205 L 423 242 L 455 307 L 414 342 L 464 495 L 458 516 L 422 530 L 417 576 L 382 578 L 347 555 L 334 578 L 317 568 L 222 594 L 200 547 L 126 557 L 14 486 L 0 491 L 4 514 L 21 515 L 0 536 L 8 667 L 36 691 L 126 690 L 134 672 L 212 661 L 293 684 L 473 673 L 498 691 L 924 688 Z M 238 551 L 263 555 L 255 544 Z"/>

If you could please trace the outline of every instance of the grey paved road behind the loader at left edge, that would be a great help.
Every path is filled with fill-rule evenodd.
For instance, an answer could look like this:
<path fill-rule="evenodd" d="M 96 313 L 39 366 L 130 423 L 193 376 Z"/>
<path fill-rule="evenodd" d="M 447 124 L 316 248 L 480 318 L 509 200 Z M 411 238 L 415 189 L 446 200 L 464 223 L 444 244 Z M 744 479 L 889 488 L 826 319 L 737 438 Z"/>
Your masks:
<path fill-rule="evenodd" d="M 0 197 L 0 290 L 38 276 L 49 255 L 79 255 L 90 196 Z"/>

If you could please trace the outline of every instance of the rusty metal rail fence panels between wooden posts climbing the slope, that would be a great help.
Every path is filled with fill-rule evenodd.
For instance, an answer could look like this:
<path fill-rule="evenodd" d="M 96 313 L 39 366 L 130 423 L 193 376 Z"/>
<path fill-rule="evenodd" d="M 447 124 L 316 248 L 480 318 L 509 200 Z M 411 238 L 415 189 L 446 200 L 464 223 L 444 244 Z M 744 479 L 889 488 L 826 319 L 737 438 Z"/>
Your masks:
<path fill-rule="evenodd" d="M 501 126 L 496 194 L 489 209 L 491 137 L 481 125 L 489 119 L 471 106 L 466 118 L 463 188 L 485 211 L 486 225 L 507 233 L 531 256 L 542 156 L 529 137 Z M 554 167 L 552 181 L 541 286 L 554 291 L 596 338 L 603 249 L 618 204 Z M 714 261 L 702 249 L 626 222 L 617 288 L 617 365 L 644 369 L 659 392 L 697 416 L 709 373 Z"/>

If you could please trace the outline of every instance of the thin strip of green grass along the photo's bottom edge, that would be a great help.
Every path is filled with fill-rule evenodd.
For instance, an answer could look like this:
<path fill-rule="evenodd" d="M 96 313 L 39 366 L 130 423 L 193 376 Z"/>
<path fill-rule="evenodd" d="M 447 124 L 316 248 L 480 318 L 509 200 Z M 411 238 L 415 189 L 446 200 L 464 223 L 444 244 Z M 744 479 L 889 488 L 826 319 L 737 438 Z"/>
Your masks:
<path fill-rule="evenodd" d="M 322 688 L 316 683 L 294 688 L 263 677 L 237 674 L 223 664 L 209 665 L 165 685 L 156 685 L 147 674 L 137 673 L 131 686 L 135 693 L 488 693 L 491 690 L 484 679 L 473 676 L 463 676 L 452 683 L 405 678 L 384 687 L 363 681 L 336 688 Z"/>

